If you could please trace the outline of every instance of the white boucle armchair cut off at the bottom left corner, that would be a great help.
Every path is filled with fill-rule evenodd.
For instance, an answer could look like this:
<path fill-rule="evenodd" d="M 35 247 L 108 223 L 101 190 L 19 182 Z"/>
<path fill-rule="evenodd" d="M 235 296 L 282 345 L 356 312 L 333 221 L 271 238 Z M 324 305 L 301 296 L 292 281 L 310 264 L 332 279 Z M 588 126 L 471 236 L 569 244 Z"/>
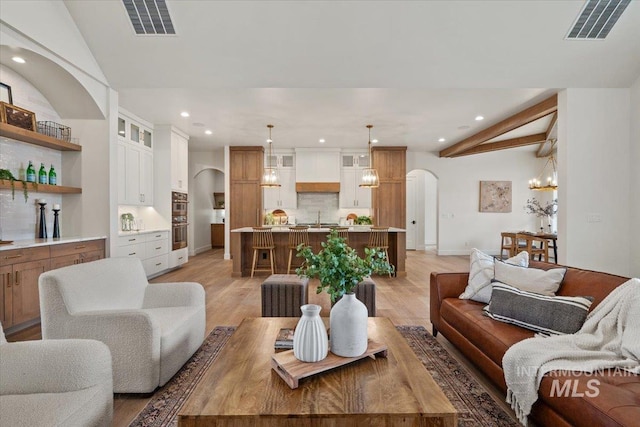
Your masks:
<path fill-rule="evenodd" d="M 0 325 L 0 425 L 111 425 L 109 348 L 94 340 L 7 343 Z"/>

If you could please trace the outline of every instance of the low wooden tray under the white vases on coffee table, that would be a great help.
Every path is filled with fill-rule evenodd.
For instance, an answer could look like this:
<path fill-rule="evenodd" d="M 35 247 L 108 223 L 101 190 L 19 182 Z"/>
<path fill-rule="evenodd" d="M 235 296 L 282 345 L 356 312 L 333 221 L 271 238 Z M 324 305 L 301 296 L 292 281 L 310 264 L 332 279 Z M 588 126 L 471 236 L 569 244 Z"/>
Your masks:
<path fill-rule="evenodd" d="M 271 356 L 271 367 L 292 389 L 298 388 L 301 379 L 348 365 L 356 360 L 375 356 L 387 357 L 387 346 L 369 341 L 367 351 L 357 357 L 340 357 L 329 352 L 326 359 L 315 363 L 301 362 L 293 355 L 293 350 L 283 351 Z"/>

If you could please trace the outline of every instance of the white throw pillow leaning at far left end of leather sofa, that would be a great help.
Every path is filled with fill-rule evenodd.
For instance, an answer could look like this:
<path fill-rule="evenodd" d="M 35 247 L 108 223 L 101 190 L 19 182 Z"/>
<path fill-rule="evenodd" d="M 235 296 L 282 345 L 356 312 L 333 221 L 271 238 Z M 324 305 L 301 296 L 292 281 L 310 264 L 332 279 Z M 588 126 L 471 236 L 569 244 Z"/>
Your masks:
<path fill-rule="evenodd" d="M 529 254 L 527 252 L 520 252 L 505 262 L 527 267 L 529 266 Z M 491 281 L 494 277 L 494 263 L 495 258 L 491 255 L 485 254 L 475 248 L 471 250 L 469 282 L 464 292 L 460 295 L 460 299 L 470 299 L 485 304 L 489 303 L 492 291 Z"/>

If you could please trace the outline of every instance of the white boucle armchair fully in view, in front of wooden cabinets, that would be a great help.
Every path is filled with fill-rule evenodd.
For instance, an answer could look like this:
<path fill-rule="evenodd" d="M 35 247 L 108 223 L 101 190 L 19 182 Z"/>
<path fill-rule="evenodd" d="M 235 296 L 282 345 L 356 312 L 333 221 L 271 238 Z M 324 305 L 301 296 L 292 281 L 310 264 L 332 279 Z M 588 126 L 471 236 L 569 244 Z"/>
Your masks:
<path fill-rule="evenodd" d="M 204 340 L 202 285 L 149 284 L 137 258 L 48 271 L 39 288 L 42 338 L 107 344 L 116 393 L 149 393 L 164 385 Z"/>

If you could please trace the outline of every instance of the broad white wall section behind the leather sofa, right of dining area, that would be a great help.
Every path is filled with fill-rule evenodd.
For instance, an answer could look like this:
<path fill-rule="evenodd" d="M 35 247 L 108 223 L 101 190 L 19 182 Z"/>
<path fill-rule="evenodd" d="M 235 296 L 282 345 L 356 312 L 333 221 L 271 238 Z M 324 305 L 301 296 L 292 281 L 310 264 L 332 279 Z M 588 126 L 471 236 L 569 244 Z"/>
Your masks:
<path fill-rule="evenodd" d="M 560 262 L 627 276 L 631 272 L 627 249 L 631 247 L 631 90 L 561 91 L 558 118 Z"/>

